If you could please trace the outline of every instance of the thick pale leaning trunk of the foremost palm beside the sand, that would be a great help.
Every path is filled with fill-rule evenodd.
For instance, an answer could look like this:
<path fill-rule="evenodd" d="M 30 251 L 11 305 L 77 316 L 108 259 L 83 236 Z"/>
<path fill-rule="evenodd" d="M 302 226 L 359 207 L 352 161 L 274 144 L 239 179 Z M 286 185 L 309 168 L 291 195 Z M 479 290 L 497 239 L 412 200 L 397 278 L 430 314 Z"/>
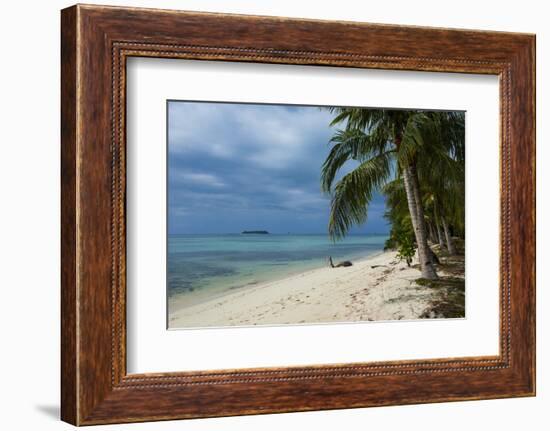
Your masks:
<path fill-rule="evenodd" d="M 424 210 L 420 204 L 420 190 L 418 179 L 413 165 L 405 166 L 403 169 L 403 182 L 405 183 L 405 192 L 407 194 L 407 205 L 411 214 L 411 221 L 416 237 L 418 247 L 418 260 L 420 261 L 420 270 L 422 277 L 429 280 L 437 279 L 437 273 L 430 256 L 428 238 L 426 234 L 426 222 L 424 220 Z M 416 190 L 415 190 L 416 189 Z"/>

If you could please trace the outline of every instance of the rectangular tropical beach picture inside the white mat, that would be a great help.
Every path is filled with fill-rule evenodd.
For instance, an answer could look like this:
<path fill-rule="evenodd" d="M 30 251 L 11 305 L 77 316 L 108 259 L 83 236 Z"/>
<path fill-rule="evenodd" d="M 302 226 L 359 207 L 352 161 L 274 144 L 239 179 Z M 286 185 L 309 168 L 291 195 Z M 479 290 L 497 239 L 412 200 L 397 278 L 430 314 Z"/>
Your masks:
<path fill-rule="evenodd" d="M 167 102 L 168 329 L 460 319 L 465 113 Z"/>

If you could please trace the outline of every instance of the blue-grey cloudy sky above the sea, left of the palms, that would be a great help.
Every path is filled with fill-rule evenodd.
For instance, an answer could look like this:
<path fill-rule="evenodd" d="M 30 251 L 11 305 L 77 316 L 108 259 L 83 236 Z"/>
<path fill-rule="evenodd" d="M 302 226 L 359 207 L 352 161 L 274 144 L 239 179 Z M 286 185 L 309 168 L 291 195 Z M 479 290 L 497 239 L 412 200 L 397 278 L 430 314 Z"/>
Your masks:
<path fill-rule="evenodd" d="M 170 234 L 326 233 L 330 118 L 316 107 L 170 101 Z M 378 195 L 352 233 L 386 233 L 383 212 Z"/>

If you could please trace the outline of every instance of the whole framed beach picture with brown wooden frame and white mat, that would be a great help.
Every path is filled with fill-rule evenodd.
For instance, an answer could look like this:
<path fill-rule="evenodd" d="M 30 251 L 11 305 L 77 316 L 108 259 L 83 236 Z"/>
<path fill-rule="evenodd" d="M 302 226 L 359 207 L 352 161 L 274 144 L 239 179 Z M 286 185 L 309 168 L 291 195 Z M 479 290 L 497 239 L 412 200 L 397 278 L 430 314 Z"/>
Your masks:
<path fill-rule="evenodd" d="M 535 394 L 535 37 L 62 11 L 75 425 Z"/>

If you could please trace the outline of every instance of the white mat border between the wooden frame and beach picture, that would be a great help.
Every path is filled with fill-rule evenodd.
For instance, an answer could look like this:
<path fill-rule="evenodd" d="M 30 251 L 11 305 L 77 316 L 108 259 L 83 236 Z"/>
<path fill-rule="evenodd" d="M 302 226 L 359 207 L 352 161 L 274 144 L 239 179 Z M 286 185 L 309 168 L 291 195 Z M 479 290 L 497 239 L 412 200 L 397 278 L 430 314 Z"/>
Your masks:
<path fill-rule="evenodd" d="M 497 355 L 497 76 L 128 59 L 128 372 Z M 166 329 L 168 99 L 465 110 L 466 318 Z"/>

